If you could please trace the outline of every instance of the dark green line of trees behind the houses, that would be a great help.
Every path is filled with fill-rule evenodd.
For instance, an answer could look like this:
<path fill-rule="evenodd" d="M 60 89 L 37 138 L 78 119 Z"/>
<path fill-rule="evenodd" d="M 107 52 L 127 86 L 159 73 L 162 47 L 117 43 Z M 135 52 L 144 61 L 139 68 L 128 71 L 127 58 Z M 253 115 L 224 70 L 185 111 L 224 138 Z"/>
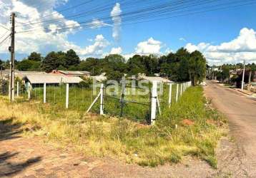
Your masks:
<path fill-rule="evenodd" d="M 6 68 L 9 63 L 6 62 Z M 189 53 L 180 48 L 176 53 L 166 56 L 134 55 L 127 61 L 118 54 L 110 54 L 104 58 L 87 58 L 82 61 L 74 50 L 48 53 L 45 57 L 33 52 L 22 61 L 15 61 L 18 70 L 45 71 L 52 70 L 87 70 L 92 75 L 107 73 L 109 79 L 120 80 L 124 73 L 138 75 L 144 73 L 154 76 L 159 73 L 170 80 L 181 82 L 192 80 L 200 83 L 205 78 L 206 59 L 200 51 Z"/>

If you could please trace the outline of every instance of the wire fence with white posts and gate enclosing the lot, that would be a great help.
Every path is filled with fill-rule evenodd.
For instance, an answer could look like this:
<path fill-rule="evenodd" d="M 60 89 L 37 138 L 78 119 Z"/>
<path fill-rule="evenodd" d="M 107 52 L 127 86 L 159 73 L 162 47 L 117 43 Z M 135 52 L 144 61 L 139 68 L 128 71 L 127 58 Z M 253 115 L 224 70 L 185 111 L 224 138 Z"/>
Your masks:
<path fill-rule="evenodd" d="M 0 95 L 9 98 L 9 82 L 2 80 L 0 84 Z M 156 112 L 161 114 L 161 110 L 166 110 L 172 103 L 176 103 L 187 87 L 189 83 L 157 84 Z M 16 81 L 14 90 L 17 102 L 33 101 L 42 105 L 48 104 L 58 110 L 86 112 L 92 106 L 90 112 L 100 113 L 103 105 L 102 111 L 106 115 L 126 117 L 142 123 L 149 123 L 152 114 L 152 93 L 144 93 L 143 88 L 132 88 L 129 85 L 119 85 L 118 90 L 105 88 L 101 100 L 95 100 L 97 96 L 99 98 L 101 89 L 93 85 L 84 87 L 69 84 L 67 88 L 67 84 L 29 85 Z"/>

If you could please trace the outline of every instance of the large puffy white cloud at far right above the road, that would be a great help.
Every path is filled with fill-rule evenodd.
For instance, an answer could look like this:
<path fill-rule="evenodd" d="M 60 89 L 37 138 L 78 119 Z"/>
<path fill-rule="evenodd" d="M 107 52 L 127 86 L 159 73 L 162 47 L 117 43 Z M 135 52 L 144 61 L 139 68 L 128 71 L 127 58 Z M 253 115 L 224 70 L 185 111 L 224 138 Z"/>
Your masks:
<path fill-rule="evenodd" d="M 240 63 L 243 60 L 256 63 L 256 31 L 242 28 L 239 36 L 232 41 L 217 46 L 210 43 L 187 43 L 185 48 L 189 52 L 201 51 L 210 64 Z"/>

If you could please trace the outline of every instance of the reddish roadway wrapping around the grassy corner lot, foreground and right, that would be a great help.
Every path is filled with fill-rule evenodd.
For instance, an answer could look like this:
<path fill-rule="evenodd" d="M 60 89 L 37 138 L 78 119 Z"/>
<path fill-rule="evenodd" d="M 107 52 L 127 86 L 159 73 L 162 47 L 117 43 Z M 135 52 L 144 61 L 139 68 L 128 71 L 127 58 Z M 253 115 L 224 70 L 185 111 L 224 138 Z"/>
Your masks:
<path fill-rule="evenodd" d="M 46 142 L 44 137 L 23 137 L 21 125 L 10 125 L 9 118 L 0 118 L 7 123 L 0 122 L 0 177 L 256 177 L 252 141 L 256 117 L 251 116 L 256 110 L 249 109 L 255 107 L 255 101 L 213 83 L 205 87 L 205 94 L 229 117 L 231 135 L 236 140 L 225 137 L 220 141 L 217 169 L 196 157 L 154 168 L 109 157 L 87 157 L 72 147 Z M 245 108 L 241 112 L 240 103 L 247 103 L 242 104 Z"/>

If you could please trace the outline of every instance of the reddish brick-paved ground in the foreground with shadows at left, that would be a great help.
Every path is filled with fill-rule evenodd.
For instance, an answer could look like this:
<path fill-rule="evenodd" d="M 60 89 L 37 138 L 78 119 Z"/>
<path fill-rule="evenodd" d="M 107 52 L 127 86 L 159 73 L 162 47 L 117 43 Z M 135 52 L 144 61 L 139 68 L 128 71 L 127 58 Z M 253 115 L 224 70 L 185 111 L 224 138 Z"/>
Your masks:
<path fill-rule="evenodd" d="M 216 170 L 197 158 L 159 167 L 86 157 L 44 137 L 22 137 L 19 125 L 1 125 L 0 177 L 211 177 Z M 203 174 L 202 174 L 203 173 Z"/>

